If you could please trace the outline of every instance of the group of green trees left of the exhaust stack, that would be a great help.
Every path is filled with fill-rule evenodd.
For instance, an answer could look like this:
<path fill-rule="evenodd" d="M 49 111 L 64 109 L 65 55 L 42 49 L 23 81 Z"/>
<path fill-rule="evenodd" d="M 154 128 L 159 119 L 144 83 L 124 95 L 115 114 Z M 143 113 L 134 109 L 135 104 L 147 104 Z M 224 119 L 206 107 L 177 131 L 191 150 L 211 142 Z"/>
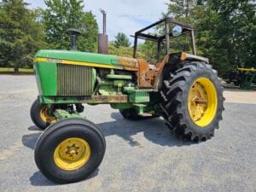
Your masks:
<path fill-rule="evenodd" d="M 0 4 L 0 67 L 32 67 L 38 49 L 69 49 L 68 28 L 82 32 L 77 46 L 96 52 L 98 26 L 82 0 L 44 0 L 46 9 L 28 9 L 23 0 Z"/>

